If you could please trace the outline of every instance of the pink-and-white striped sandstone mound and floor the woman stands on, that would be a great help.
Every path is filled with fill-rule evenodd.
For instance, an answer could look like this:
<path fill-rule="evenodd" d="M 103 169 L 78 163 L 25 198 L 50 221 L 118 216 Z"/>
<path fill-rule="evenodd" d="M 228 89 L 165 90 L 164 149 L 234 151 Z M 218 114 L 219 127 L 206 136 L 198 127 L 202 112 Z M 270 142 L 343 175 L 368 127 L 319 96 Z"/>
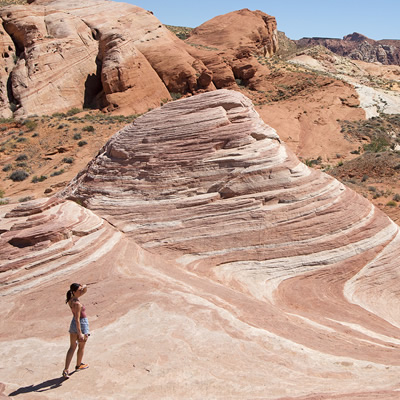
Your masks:
<path fill-rule="evenodd" d="M 398 396 L 398 226 L 299 162 L 237 92 L 149 112 L 58 198 L 7 207 L 6 394 Z M 91 367 L 61 385 L 72 281 L 90 283 Z"/>

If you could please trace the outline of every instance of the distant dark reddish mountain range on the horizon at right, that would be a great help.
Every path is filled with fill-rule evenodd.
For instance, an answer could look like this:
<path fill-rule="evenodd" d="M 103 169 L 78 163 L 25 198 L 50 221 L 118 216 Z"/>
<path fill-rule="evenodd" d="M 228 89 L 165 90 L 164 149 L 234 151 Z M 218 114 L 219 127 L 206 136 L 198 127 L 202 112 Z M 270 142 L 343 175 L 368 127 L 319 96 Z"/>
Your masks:
<path fill-rule="evenodd" d="M 366 62 L 380 62 L 385 65 L 400 65 L 400 40 L 378 40 L 354 32 L 343 39 L 302 38 L 295 41 L 299 47 L 322 45 L 332 52 Z"/>

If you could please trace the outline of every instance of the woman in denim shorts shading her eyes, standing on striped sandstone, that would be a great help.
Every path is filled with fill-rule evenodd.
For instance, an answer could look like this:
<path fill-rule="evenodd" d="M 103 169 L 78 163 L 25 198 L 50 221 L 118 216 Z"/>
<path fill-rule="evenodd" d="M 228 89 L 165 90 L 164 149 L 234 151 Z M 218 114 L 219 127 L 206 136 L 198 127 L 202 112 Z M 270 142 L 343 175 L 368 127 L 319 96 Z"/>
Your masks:
<path fill-rule="evenodd" d="M 89 368 L 88 364 L 82 363 L 85 344 L 90 335 L 89 322 L 86 317 L 85 306 L 79 301 L 79 298 L 83 296 L 86 291 L 86 285 L 82 286 L 79 283 L 73 283 L 67 292 L 67 299 L 65 302 L 70 306 L 74 316 L 69 327 L 70 346 L 67 351 L 65 368 L 62 373 L 64 378 L 69 378 L 69 364 L 71 363 L 72 357 L 75 353 L 76 346 L 78 346 L 78 353 L 75 370 L 80 371 Z"/>

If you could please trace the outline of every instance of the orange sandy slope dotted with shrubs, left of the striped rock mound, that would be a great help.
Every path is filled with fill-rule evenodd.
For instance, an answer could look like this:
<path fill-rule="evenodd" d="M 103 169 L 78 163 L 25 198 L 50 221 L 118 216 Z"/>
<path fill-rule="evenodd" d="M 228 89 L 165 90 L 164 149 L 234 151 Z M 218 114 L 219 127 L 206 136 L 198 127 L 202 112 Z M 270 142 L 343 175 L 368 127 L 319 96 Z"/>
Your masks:
<path fill-rule="evenodd" d="M 20 190 L 20 185 L 33 193 L 31 197 L 62 187 L 60 184 L 66 184 L 83 168 L 110 136 L 137 117 L 74 108 L 20 121 L 0 119 L 2 204 Z M 66 176 L 64 183 L 57 179 L 60 175 Z"/>

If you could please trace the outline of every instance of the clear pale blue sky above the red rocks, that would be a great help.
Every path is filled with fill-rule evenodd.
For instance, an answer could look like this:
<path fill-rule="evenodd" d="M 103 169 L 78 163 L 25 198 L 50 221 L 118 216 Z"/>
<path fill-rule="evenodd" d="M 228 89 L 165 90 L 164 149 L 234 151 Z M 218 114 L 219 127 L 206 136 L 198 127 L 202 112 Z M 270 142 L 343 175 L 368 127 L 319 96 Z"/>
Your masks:
<path fill-rule="evenodd" d="M 291 39 L 343 37 L 358 32 L 371 39 L 400 39 L 400 0 L 117 0 L 134 4 L 166 25 L 195 28 L 234 10 L 261 10 L 276 17 Z"/>

